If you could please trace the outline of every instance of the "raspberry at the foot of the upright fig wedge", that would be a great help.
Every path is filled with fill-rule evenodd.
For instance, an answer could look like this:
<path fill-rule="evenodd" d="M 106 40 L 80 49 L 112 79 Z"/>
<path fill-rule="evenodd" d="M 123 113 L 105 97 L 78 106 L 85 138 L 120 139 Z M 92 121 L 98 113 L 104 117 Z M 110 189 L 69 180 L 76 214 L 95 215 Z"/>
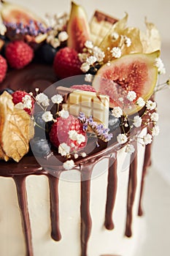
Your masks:
<path fill-rule="evenodd" d="M 80 69 L 81 62 L 78 58 L 77 51 L 69 47 L 58 50 L 55 54 L 53 67 L 55 74 L 60 79 L 82 74 Z"/>

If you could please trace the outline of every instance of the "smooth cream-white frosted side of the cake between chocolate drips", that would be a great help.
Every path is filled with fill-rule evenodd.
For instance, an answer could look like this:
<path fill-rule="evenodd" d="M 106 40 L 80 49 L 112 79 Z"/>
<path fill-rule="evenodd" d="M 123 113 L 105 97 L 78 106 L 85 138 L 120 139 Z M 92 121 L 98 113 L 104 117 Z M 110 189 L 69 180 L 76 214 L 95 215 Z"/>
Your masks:
<path fill-rule="evenodd" d="M 146 131 L 144 130 L 143 133 Z M 117 175 L 117 192 L 115 192 L 115 207 L 113 212 L 111 212 L 111 222 L 113 221 L 115 224 L 115 228 L 113 230 L 107 230 L 104 227 L 105 222 L 105 214 L 106 214 L 106 202 L 107 202 L 107 189 L 108 189 L 108 161 L 109 159 L 103 159 L 99 161 L 93 168 L 94 178 L 90 181 L 90 189 L 85 191 L 85 201 L 87 197 L 89 198 L 89 214 L 91 217 L 91 230 L 88 227 L 87 219 L 81 219 L 80 214 L 80 206 L 82 203 L 81 198 L 81 183 L 80 182 L 69 182 L 66 181 L 67 176 L 75 175 L 79 176 L 81 179 L 81 173 L 78 170 L 69 170 L 63 172 L 59 178 L 58 182 L 58 228 L 61 233 L 60 241 L 53 241 L 50 238 L 51 233 L 51 223 L 50 223 L 50 189 L 49 189 L 49 174 L 40 176 L 29 175 L 26 176 L 26 194 L 28 196 L 28 214 L 30 217 L 30 225 L 31 225 L 31 236 L 32 236 L 32 252 L 29 248 L 30 255 L 47 255 L 47 253 L 57 253 L 63 254 L 63 252 L 68 252 L 70 255 L 80 255 L 81 247 L 87 250 L 87 255 L 104 255 L 104 254 L 120 254 L 120 255 L 131 255 L 130 252 L 133 252 L 134 249 L 134 240 L 136 240 L 136 229 L 138 218 L 138 208 L 139 208 L 139 192 L 141 188 L 141 179 L 142 179 L 142 164 L 144 160 L 144 148 L 139 146 L 138 148 L 138 166 L 136 170 L 137 176 L 137 184 L 136 184 L 136 192 L 134 192 L 135 200 L 133 206 L 133 220 L 131 224 L 128 224 L 128 228 L 132 229 L 133 237 L 127 238 L 125 237 L 125 226 L 127 225 L 127 200 L 130 199 L 130 195 L 127 195 L 128 191 L 128 178 L 129 178 L 129 162 L 125 158 L 127 154 L 125 154 L 125 148 L 122 148 L 117 152 L 117 170 L 115 170 Z M 123 167 L 124 165 L 124 167 Z M 90 166 L 89 166 L 90 167 Z M 100 168 L 101 174 L 96 177 L 96 173 L 98 173 L 98 168 Z M 90 168 L 89 168 L 90 170 Z M 112 167 L 111 167 L 112 170 Z M 135 174 L 134 174 L 135 175 Z M 133 175 L 133 176 L 134 176 Z M 54 178 L 54 177 L 53 177 Z M 110 180 L 111 181 L 111 180 Z M 84 183 L 85 181 L 82 181 Z M 86 181 L 87 182 L 87 181 Z M 100 191 L 98 191 L 98 187 L 100 187 Z M 26 248 L 23 246 L 23 243 L 20 241 L 24 241 L 26 239 L 23 236 L 23 230 L 21 228 L 21 219 L 20 219 L 20 206 L 18 206 L 18 196 L 16 194 L 15 181 L 11 181 L 11 178 L 1 178 L 1 195 L 3 195 L 4 191 L 8 191 L 7 200 L 10 200 L 9 203 L 12 206 L 11 212 L 12 217 L 10 219 L 7 218 L 7 212 L 2 211 L 1 217 L 1 230 L 7 231 L 6 236 L 4 235 L 4 231 L 1 234 L 1 255 L 9 255 L 7 251 L 10 247 L 10 255 L 25 255 Z M 11 191 L 9 193 L 9 191 Z M 89 193 L 89 195 L 88 195 Z M 12 196 L 12 198 L 11 198 Z M 109 195 L 112 200 L 112 195 Z M 114 195 L 113 195 L 114 197 Z M 7 200 L 4 197 L 1 197 L 1 208 L 5 209 L 5 205 L 7 206 Z M 14 204 L 15 200 L 15 204 Z M 3 203 L 4 202 L 4 203 Z M 84 202 L 85 203 L 85 202 Z M 26 207 L 26 206 L 25 206 Z M 6 208 L 7 209 L 7 208 Z M 98 210 L 96 210 L 98 209 Z M 56 210 L 56 209 L 55 209 Z M 8 209 L 6 210 L 8 211 Z M 4 212 L 4 214 L 3 214 Z M 56 213 L 54 213 L 56 214 Z M 86 214 L 88 214 L 86 208 Z M 128 208 L 128 214 L 131 214 L 131 209 Z M 87 216 L 86 216 L 87 217 Z M 52 219 L 51 219 L 52 221 Z M 24 220 L 26 222 L 26 219 Z M 81 223 L 84 222 L 84 227 L 81 227 Z M 18 223 L 18 227 L 15 229 L 12 226 Z M 20 224 L 19 224 L 20 223 Z M 52 223 L 52 225 L 55 225 Z M 54 226 L 54 232 L 57 232 L 57 227 Z M 82 236 L 85 236 L 85 230 L 87 231 L 89 228 L 89 241 L 88 246 L 84 244 L 84 239 L 82 244 L 80 243 L 80 233 Z M 84 231 L 83 231 L 84 230 Z M 26 232 L 26 231 L 25 231 Z M 136 233 L 136 234 L 135 234 Z M 7 237 L 10 238 L 7 239 Z M 84 235 L 83 235 L 84 234 Z M 14 239 L 15 237 L 15 239 Z M 85 238 L 85 237 L 84 237 Z M 42 244 L 42 240 L 44 241 Z M 13 245 L 10 244 L 10 241 L 14 241 Z M 18 241 L 18 242 L 17 242 Z M 79 242 L 78 242 L 79 241 Z M 29 241 L 30 242 L 30 241 Z M 41 246 L 40 246 L 40 244 Z M 98 246 L 98 243 L 100 246 Z M 115 244 L 114 249 L 112 247 L 112 243 Z M 6 244 L 6 245 L 5 245 Z M 77 244 L 77 246 L 74 246 Z M 30 245 L 31 246 L 31 245 Z M 87 246 L 87 247 L 86 247 Z M 12 248 L 12 249 L 11 249 Z M 28 248 L 27 248 L 28 249 Z M 85 255 L 85 252 L 82 252 L 82 255 Z"/>

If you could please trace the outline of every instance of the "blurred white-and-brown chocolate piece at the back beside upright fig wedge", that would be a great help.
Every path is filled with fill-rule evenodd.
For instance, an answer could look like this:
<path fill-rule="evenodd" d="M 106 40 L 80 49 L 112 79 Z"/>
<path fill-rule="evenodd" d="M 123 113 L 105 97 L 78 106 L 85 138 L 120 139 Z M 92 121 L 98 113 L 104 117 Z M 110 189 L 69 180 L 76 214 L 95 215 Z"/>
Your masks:
<path fill-rule="evenodd" d="M 116 18 L 112 18 L 103 12 L 96 11 L 90 22 L 91 40 L 93 44 L 99 46 L 109 32 L 109 29 L 111 29 L 112 25 L 116 22 Z"/>

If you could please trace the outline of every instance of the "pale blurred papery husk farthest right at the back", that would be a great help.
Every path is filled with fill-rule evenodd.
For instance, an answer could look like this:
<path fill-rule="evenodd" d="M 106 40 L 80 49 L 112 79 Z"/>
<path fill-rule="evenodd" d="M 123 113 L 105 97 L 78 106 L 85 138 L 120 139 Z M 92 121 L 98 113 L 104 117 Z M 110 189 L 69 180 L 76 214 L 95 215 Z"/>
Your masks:
<path fill-rule="evenodd" d="M 144 53 L 152 53 L 161 49 L 161 36 L 153 23 L 147 22 L 145 18 L 146 32 L 140 34 Z"/>

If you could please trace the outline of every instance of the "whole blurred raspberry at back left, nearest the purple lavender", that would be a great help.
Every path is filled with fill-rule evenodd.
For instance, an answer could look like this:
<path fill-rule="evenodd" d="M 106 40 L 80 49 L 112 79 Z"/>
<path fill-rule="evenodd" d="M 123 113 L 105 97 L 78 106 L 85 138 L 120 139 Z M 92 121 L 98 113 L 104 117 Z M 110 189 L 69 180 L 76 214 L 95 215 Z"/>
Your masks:
<path fill-rule="evenodd" d="M 15 69 L 22 69 L 31 62 L 34 50 L 23 41 L 9 42 L 5 50 L 9 65 Z"/>

